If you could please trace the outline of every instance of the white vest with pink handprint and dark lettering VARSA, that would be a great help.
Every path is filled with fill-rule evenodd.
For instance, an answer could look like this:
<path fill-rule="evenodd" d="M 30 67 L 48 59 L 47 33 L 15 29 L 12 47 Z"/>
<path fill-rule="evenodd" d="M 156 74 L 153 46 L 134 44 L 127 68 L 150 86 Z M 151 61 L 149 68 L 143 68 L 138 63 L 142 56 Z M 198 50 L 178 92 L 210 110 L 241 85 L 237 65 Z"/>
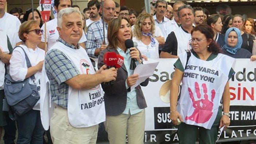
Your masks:
<path fill-rule="evenodd" d="M 179 58 L 185 67 L 187 53 L 182 53 Z M 186 124 L 206 129 L 212 127 L 233 63 L 234 58 L 223 54 L 211 61 L 203 61 L 191 53 L 183 72 L 181 98 L 177 105 Z"/>

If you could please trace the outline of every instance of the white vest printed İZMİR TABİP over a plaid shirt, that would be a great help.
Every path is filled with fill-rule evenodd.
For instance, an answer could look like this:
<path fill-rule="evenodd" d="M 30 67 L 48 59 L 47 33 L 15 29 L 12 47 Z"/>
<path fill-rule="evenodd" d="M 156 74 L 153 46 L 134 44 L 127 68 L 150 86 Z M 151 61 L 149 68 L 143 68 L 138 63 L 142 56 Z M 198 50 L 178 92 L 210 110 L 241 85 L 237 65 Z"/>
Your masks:
<path fill-rule="evenodd" d="M 95 74 L 84 48 L 73 49 L 56 43 L 52 49 L 61 50 L 80 74 Z M 86 81 L 86 80 L 85 80 Z M 69 86 L 67 113 L 73 127 L 90 127 L 105 121 L 105 104 L 100 85 L 89 90 L 76 90 Z"/>

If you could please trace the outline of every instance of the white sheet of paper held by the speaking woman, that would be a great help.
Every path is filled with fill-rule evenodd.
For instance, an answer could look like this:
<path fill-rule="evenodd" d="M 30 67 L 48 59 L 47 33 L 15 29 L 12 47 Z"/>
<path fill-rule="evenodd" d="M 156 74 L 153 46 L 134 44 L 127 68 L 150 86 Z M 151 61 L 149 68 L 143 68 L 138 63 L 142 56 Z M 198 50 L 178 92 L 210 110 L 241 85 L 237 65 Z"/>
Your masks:
<path fill-rule="evenodd" d="M 139 79 L 136 81 L 135 85 L 131 86 L 131 90 L 152 76 L 158 63 L 159 62 L 137 65 L 133 74 L 139 74 Z"/>

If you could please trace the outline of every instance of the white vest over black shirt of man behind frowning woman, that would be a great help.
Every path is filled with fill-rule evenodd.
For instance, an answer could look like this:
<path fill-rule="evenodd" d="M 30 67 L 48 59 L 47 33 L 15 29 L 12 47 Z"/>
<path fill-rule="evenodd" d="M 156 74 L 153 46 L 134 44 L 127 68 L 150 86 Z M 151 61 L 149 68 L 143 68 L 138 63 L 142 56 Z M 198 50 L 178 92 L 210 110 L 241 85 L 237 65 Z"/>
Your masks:
<path fill-rule="evenodd" d="M 174 34 L 177 39 L 177 55 L 182 52 L 186 52 L 185 50 L 190 49 L 189 40 L 191 39 L 191 34 L 185 32 L 181 27 L 174 30 Z"/>

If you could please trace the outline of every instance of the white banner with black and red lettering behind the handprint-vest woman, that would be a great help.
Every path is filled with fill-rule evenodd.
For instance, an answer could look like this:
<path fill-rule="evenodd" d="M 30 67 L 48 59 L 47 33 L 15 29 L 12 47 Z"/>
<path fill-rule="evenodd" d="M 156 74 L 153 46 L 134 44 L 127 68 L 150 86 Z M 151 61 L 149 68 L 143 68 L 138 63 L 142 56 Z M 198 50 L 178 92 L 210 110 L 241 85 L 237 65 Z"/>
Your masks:
<path fill-rule="evenodd" d="M 146 108 L 145 142 L 177 142 L 176 127 L 169 119 L 170 81 L 177 59 L 149 59 L 159 62 L 148 86 L 142 87 Z M 230 79 L 230 126 L 224 129 L 219 141 L 256 139 L 256 61 L 236 59 L 234 76 Z M 172 132 L 173 131 L 173 132 Z M 230 132 L 231 131 L 231 132 Z"/>

